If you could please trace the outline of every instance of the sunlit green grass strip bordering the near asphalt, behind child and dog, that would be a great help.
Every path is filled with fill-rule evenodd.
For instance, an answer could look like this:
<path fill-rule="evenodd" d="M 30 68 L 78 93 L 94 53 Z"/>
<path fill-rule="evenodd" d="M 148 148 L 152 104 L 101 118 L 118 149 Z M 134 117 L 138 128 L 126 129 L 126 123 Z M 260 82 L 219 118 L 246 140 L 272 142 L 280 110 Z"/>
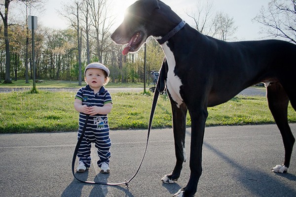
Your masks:
<path fill-rule="evenodd" d="M 0 93 L 0 133 L 76 131 L 74 96 L 75 92 Z M 111 130 L 147 129 L 152 98 L 141 93 L 112 94 L 113 108 L 108 115 Z M 207 126 L 274 123 L 264 97 L 235 97 L 208 111 Z M 153 128 L 172 127 L 171 114 L 168 97 L 161 95 Z M 296 122 L 296 112 L 290 104 L 288 118 L 289 122 Z M 187 116 L 187 126 L 190 125 Z"/>

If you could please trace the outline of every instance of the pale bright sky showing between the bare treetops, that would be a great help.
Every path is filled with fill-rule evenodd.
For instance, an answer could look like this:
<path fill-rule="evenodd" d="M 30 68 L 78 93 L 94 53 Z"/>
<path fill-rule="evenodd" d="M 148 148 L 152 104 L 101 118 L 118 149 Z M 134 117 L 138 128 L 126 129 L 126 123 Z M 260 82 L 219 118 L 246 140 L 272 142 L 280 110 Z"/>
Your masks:
<path fill-rule="evenodd" d="M 63 4 L 68 4 L 73 0 L 47 0 L 44 11 L 38 16 L 38 24 L 55 29 L 66 29 L 68 23 L 66 19 L 58 14 L 58 10 L 62 10 Z M 114 12 L 118 14 L 116 17 L 116 28 L 123 20 L 124 10 L 136 0 L 111 0 Z M 197 2 L 206 2 L 207 0 L 162 0 L 168 4 L 185 22 L 193 25 L 193 20 L 186 15 L 197 11 Z M 236 40 L 258 40 L 263 35 L 259 34 L 260 27 L 258 22 L 252 22 L 262 6 L 267 7 L 270 0 L 212 0 L 213 12 L 221 11 L 233 17 L 237 31 L 235 33 Z"/>

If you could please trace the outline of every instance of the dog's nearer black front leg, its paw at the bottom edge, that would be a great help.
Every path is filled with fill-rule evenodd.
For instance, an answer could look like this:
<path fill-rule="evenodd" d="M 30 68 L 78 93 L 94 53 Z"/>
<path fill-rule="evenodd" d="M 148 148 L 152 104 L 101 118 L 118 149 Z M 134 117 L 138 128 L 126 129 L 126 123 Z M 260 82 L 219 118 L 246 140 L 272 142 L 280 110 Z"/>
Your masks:
<path fill-rule="evenodd" d="M 205 130 L 205 123 L 208 116 L 207 108 L 190 111 L 191 117 L 191 144 L 190 144 L 190 178 L 185 188 L 179 190 L 174 197 L 193 197 L 196 193 L 199 177 L 201 176 L 201 154 Z"/>

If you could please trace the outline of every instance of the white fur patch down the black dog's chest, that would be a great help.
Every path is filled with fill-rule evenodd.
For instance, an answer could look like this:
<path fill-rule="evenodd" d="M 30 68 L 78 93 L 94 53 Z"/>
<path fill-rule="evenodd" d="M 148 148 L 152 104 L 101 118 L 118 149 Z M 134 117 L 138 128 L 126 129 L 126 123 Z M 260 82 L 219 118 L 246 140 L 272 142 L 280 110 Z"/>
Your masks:
<path fill-rule="evenodd" d="M 181 79 L 177 75 L 175 75 L 175 57 L 173 52 L 170 50 L 166 43 L 167 42 L 161 45 L 169 66 L 166 86 L 170 92 L 172 99 L 177 103 L 177 107 L 180 108 L 180 105 L 183 103 L 183 99 L 180 95 L 180 87 L 182 86 L 182 82 Z"/>

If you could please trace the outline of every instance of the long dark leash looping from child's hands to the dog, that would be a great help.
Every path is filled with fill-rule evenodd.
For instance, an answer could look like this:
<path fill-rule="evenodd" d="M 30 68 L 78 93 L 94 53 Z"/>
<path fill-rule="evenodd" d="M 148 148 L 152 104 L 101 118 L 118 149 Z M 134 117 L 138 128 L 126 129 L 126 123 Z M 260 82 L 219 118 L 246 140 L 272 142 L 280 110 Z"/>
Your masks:
<path fill-rule="evenodd" d="M 165 67 L 164 65 L 166 64 L 166 60 L 164 59 L 163 61 L 163 64 L 161 66 L 161 69 L 160 69 L 160 74 L 159 74 L 159 77 L 158 77 L 158 81 L 157 81 L 157 84 L 156 84 L 156 91 L 154 93 L 154 97 L 153 97 L 153 101 L 152 101 L 152 107 L 151 107 L 151 112 L 150 112 L 150 118 L 149 118 L 149 125 L 148 125 L 148 133 L 147 133 L 147 141 L 146 141 L 146 148 L 145 148 L 145 151 L 144 151 L 144 155 L 143 155 L 143 158 L 142 158 L 142 161 L 136 171 L 136 173 L 129 179 L 129 180 L 125 180 L 124 182 L 121 182 L 121 183 L 109 183 L 109 182 L 96 182 L 96 181 L 83 181 L 83 180 L 80 180 L 79 178 L 76 177 L 75 175 L 75 172 L 74 172 L 74 165 L 75 165 L 75 161 L 76 161 L 76 156 L 77 156 L 77 153 L 78 153 L 78 149 L 80 147 L 80 144 L 81 144 L 81 141 L 84 137 L 84 133 L 85 133 L 85 129 L 86 129 L 86 125 L 87 125 L 87 121 L 88 121 L 88 118 L 89 118 L 89 115 L 86 115 L 86 118 L 85 118 L 85 123 L 84 123 L 84 126 L 83 126 L 83 129 L 81 131 L 81 135 L 77 141 L 77 144 L 75 146 L 75 150 L 74 150 L 74 154 L 73 154 L 73 159 L 72 159 L 72 174 L 74 176 L 74 178 L 82 183 L 89 183 L 89 184 L 100 184 L 100 185 L 109 185 L 109 186 L 118 186 L 118 185 L 126 185 L 126 187 L 128 188 L 128 184 L 131 180 L 133 180 L 136 175 L 138 174 L 142 164 L 143 164 L 143 161 L 144 161 L 144 158 L 146 156 L 146 153 L 147 153 L 147 148 L 148 148 L 148 142 L 149 142 L 149 137 L 150 137 L 150 131 L 151 131 L 151 127 L 152 127 L 152 120 L 153 120 L 153 115 L 154 115 L 154 112 L 155 112 L 155 107 L 156 107 L 156 103 L 157 103 L 157 99 L 158 99 L 158 96 L 159 96 L 159 93 L 160 92 L 163 92 L 164 89 L 165 89 L 165 84 L 164 84 L 164 80 L 165 80 Z"/>

